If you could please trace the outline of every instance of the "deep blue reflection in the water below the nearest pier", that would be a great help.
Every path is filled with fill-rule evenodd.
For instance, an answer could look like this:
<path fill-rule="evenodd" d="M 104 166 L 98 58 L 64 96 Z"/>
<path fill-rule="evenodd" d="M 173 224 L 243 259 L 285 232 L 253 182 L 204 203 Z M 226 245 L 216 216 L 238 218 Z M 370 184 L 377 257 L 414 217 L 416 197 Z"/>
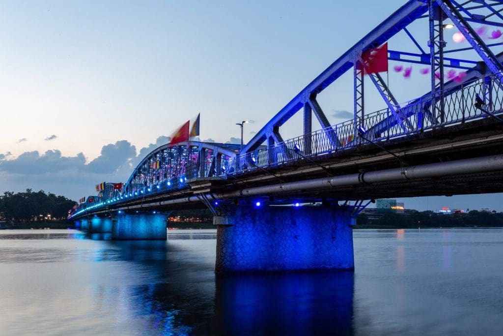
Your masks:
<path fill-rule="evenodd" d="M 352 334 L 354 273 L 218 277 L 220 334 Z"/>

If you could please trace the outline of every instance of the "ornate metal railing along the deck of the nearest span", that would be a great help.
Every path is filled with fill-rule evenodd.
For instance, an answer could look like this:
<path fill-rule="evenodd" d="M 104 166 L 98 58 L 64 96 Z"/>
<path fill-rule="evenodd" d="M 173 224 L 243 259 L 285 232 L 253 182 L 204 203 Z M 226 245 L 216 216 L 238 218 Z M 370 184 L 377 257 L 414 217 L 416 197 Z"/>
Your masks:
<path fill-rule="evenodd" d="M 320 158 L 323 155 L 366 144 L 358 134 L 363 126 L 365 138 L 385 142 L 417 132 L 430 131 L 487 117 L 502 111 L 503 89 L 494 75 L 464 84 L 456 90 L 446 90 L 389 108 L 366 114 L 306 135 L 286 140 L 253 152 L 222 161 L 221 175 L 243 174 L 261 168 Z M 432 108 L 432 106 L 434 108 Z"/>

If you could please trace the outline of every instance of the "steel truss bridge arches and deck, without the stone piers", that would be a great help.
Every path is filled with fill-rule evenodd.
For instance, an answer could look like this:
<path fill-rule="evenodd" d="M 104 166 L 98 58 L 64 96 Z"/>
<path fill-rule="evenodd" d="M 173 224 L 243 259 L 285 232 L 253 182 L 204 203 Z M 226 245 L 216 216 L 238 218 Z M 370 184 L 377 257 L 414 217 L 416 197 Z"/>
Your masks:
<path fill-rule="evenodd" d="M 503 29 L 503 2 L 411 0 L 309 83 L 240 151 L 185 142 L 161 146 L 134 169 L 122 192 L 81 204 L 73 218 L 111 210 L 208 207 L 219 203 L 296 204 L 503 191 L 503 43 L 477 25 Z M 418 33 L 409 30 L 423 21 Z M 468 47 L 448 49 L 446 24 Z M 404 34 L 415 52 L 388 50 L 388 59 L 429 67 L 425 94 L 399 103 L 379 73 L 365 75 L 362 53 Z M 418 35 L 416 35 L 418 34 Z M 422 35 L 421 35 L 422 34 Z M 428 43 L 420 43 L 428 36 Z M 491 42 L 491 43 L 488 43 Z M 408 50 L 408 49 L 407 49 Z M 364 64 L 358 66 L 357 64 Z M 452 78 L 447 70 L 463 72 Z M 354 118 L 329 123 L 317 97 L 353 73 Z M 369 85 L 370 84 L 370 85 Z M 385 108 L 369 113 L 364 89 Z M 303 115 L 303 135 L 280 127 Z M 312 129 L 312 116 L 321 129 Z"/>

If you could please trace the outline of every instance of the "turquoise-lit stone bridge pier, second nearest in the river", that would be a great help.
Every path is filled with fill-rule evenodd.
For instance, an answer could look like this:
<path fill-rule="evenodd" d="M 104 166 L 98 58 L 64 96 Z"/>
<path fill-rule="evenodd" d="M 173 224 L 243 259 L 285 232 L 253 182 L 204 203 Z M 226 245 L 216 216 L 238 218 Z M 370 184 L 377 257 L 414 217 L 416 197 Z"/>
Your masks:
<path fill-rule="evenodd" d="M 114 218 L 112 239 L 166 239 L 162 214 L 119 214 Z"/>

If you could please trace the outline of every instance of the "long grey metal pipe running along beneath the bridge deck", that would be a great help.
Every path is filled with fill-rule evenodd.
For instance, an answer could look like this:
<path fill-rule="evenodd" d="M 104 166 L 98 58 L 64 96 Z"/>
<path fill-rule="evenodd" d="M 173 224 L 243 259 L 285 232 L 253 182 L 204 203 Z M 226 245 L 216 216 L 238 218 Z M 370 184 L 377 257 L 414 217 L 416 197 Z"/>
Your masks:
<path fill-rule="evenodd" d="M 403 168 L 384 169 L 342 176 L 315 178 L 305 181 L 278 183 L 260 187 L 244 188 L 230 192 L 222 192 L 215 194 L 214 197 L 218 199 L 225 199 L 245 196 L 262 196 L 284 192 L 288 193 L 295 191 L 329 189 L 331 187 L 347 187 L 359 184 L 396 182 L 400 180 L 414 180 L 423 178 L 440 178 L 452 175 L 485 173 L 497 170 L 503 170 L 503 155 L 492 155 L 473 159 L 438 162 Z M 206 197 L 211 198 L 213 197 L 213 195 L 207 194 Z M 199 202 L 199 198 L 197 198 L 196 196 L 188 196 L 143 203 L 140 205 L 128 207 L 121 207 L 118 208 L 118 210 L 161 207 L 187 204 L 196 201 Z M 102 212 L 107 211 L 108 210 L 104 210 Z"/>

